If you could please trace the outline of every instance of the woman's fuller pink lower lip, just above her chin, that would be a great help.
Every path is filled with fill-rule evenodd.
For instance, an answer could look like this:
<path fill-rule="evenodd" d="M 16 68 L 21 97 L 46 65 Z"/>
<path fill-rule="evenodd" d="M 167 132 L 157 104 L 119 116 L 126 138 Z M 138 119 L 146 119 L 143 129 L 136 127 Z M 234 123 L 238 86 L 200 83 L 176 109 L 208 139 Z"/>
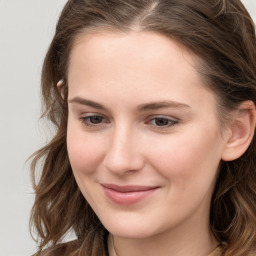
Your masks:
<path fill-rule="evenodd" d="M 147 198 L 153 194 L 158 188 L 143 190 L 143 191 L 132 191 L 132 192 L 118 192 L 110 188 L 104 188 L 105 195 L 107 198 L 115 203 L 120 205 L 132 205 L 136 204 L 143 199 Z"/>

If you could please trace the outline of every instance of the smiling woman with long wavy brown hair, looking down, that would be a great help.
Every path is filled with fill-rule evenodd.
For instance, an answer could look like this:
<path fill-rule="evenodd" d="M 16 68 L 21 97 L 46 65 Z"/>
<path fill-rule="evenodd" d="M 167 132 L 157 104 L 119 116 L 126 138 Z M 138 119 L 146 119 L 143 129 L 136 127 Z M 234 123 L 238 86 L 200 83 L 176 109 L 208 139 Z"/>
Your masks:
<path fill-rule="evenodd" d="M 240 1 L 68 1 L 42 94 L 56 134 L 32 163 L 36 255 L 255 255 L 256 38 Z"/>

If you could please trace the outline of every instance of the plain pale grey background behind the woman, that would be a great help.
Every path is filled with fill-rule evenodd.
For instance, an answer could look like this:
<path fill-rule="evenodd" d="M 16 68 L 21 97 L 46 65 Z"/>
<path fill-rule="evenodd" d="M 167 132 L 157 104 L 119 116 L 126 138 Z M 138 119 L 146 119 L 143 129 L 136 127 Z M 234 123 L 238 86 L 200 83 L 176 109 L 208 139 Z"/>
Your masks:
<path fill-rule="evenodd" d="M 29 256 L 30 154 L 46 141 L 40 72 L 66 0 L 0 0 L 0 255 Z M 254 21 L 256 1 L 243 0 Z M 49 136 L 48 136 L 49 137 Z"/>

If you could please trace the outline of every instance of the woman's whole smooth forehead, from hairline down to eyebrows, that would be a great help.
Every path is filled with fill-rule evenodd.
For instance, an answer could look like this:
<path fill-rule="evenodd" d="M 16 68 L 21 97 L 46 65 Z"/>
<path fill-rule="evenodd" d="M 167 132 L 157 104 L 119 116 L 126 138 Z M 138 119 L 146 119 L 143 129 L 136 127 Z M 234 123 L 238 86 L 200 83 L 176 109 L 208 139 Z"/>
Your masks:
<path fill-rule="evenodd" d="M 125 95 L 141 100 L 146 95 L 151 101 L 170 96 L 189 104 L 201 101 L 208 91 L 196 65 L 195 55 L 154 32 L 81 34 L 70 54 L 69 91 L 92 95 L 111 91 L 122 100 Z"/>

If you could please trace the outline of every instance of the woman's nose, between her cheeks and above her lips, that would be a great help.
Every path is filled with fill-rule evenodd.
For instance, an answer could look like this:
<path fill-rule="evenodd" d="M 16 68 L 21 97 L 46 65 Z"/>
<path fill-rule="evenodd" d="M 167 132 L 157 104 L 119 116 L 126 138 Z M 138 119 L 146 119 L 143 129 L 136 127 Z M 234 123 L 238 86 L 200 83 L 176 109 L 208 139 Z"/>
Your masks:
<path fill-rule="evenodd" d="M 103 165 L 115 175 L 125 175 L 143 168 L 144 157 L 139 136 L 127 128 L 115 129 L 109 140 Z"/>

